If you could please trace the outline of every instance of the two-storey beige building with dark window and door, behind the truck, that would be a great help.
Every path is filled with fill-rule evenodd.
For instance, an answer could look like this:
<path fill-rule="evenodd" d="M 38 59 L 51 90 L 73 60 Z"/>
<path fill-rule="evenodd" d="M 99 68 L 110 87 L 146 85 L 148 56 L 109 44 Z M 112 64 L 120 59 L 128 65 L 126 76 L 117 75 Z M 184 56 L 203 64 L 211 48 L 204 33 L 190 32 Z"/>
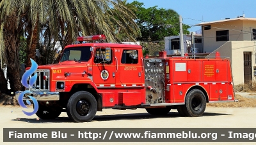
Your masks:
<path fill-rule="evenodd" d="M 234 85 L 256 80 L 256 18 L 226 18 L 203 22 L 203 52 L 220 52 L 221 57 L 230 57 Z"/>

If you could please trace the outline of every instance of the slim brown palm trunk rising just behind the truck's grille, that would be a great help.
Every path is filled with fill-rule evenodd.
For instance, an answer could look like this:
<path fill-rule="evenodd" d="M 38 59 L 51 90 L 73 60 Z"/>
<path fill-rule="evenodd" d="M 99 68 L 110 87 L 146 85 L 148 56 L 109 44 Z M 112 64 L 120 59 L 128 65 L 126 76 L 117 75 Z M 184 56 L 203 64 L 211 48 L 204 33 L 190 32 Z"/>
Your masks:
<path fill-rule="evenodd" d="M 31 67 L 31 60 L 36 61 L 36 45 L 38 42 L 38 20 L 36 21 L 35 27 L 31 22 L 28 24 L 28 38 L 27 38 L 27 62 L 26 67 Z"/>

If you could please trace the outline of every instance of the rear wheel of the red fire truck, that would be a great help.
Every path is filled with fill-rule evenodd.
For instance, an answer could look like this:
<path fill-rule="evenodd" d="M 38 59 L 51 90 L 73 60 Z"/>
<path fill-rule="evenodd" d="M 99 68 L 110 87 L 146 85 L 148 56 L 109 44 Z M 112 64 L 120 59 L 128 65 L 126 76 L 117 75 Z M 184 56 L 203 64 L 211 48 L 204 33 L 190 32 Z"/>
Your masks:
<path fill-rule="evenodd" d="M 206 108 L 206 99 L 204 93 L 198 89 L 191 90 L 186 96 L 185 104 L 186 110 L 188 111 L 188 116 L 202 116 Z"/>

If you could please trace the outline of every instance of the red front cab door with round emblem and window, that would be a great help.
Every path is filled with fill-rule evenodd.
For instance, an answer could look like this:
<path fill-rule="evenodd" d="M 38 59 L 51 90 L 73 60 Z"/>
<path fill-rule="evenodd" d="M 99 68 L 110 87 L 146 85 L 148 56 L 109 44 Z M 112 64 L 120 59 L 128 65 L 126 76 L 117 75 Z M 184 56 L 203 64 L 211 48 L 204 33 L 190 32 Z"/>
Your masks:
<path fill-rule="evenodd" d="M 98 88 L 115 86 L 116 62 L 113 59 L 113 48 L 95 48 L 93 56 L 93 82 Z"/>

